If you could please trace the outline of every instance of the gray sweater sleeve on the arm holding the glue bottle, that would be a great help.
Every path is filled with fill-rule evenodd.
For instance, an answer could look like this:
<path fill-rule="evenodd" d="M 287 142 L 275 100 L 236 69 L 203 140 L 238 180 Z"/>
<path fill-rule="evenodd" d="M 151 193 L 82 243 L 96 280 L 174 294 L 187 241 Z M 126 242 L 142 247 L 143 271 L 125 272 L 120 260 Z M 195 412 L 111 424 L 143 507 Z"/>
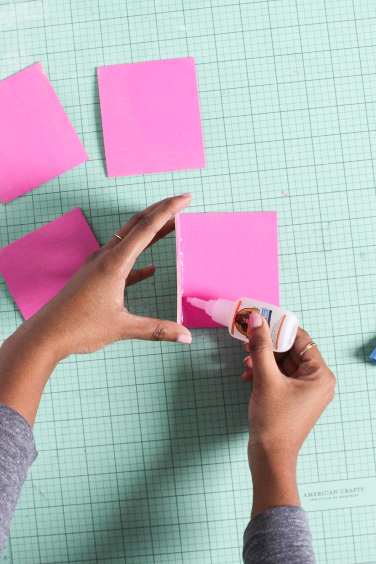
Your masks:
<path fill-rule="evenodd" d="M 282 505 L 251 519 L 244 533 L 243 559 L 245 564 L 315 564 L 304 509 Z"/>

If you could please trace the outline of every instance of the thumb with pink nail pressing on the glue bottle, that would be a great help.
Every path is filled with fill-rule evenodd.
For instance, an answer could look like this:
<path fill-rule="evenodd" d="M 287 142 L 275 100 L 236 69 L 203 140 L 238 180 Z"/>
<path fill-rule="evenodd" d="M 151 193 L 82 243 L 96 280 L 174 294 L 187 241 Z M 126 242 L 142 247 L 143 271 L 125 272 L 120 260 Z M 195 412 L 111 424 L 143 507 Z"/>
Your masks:
<path fill-rule="evenodd" d="M 253 379 L 254 381 L 268 380 L 275 375 L 277 363 L 273 353 L 269 325 L 262 315 L 253 312 L 249 316 L 247 336 Z"/>

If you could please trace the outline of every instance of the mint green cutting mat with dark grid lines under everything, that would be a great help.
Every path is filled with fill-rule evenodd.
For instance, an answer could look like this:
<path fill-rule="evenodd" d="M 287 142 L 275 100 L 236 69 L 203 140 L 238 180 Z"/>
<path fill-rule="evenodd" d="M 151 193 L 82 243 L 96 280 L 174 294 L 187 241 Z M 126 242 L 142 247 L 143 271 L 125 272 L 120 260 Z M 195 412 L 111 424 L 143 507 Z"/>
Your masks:
<path fill-rule="evenodd" d="M 0 206 L 1 245 L 76 206 L 103 244 L 188 190 L 190 211 L 278 211 L 281 303 L 338 377 L 298 469 L 320 564 L 376 562 L 375 24 L 373 0 L 0 1 L 0 78 L 41 61 L 90 155 Z M 108 179 L 96 67 L 182 56 L 196 58 L 207 168 Z M 127 305 L 174 319 L 174 238 L 151 258 L 154 282 Z M 22 319 L 3 281 L 0 300 L 6 337 Z M 3 562 L 241 562 L 244 352 L 225 329 L 193 337 L 59 365 Z"/>

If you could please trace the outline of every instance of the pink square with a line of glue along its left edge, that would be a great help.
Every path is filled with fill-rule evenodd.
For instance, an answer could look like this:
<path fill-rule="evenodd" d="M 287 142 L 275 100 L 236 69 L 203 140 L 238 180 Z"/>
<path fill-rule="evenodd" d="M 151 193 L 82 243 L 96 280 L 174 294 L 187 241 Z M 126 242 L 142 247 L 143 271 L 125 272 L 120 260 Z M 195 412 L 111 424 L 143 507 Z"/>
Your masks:
<path fill-rule="evenodd" d="M 280 305 L 275 211 L 176 215 L 178 323 L 220 327 L 187 298 Z"/>

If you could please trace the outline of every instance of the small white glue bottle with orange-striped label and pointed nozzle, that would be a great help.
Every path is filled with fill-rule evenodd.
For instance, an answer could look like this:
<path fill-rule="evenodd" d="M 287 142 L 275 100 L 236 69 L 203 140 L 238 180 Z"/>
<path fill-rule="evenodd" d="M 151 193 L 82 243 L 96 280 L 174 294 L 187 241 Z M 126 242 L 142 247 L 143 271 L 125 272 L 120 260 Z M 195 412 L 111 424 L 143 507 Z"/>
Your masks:
<path fill-rule="evenodd" d="M 248 341 L 248 320 L 254 311 L 267 320 L 272 335 L 273 350 L 285 352 L 291 349 L 298 331 L 298 318 L 282 307 L 271 306 L 256 299 L 240 298 L 236 302 L 229 299 L 187 298 L 192 306 L 200 307 L 213 321 L 227 325 L 230 334 L 241 341 Z"/>

